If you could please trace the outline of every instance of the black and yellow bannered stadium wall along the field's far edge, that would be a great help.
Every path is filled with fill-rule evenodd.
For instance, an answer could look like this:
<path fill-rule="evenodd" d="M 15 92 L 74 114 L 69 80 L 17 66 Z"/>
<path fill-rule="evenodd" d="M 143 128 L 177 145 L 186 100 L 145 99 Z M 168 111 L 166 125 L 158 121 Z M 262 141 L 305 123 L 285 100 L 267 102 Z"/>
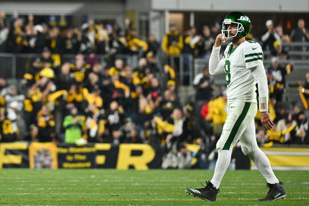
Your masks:
<path fill-rule="evenodd" d="M 274 170 L 309 170 L 309 148 L 261 148 Z M 197 152 L 198 145 L 188 150 Z M 148 170 L 161 168 L 163 148 L 148 144 L 65 144 L 65 143 L 2 143 L 2 168 L 115 168 Z M 249 169 L 250 161 L 240 148 L 233 152 L 236 169 Z M 197 161 L 197 159 L 193 159 Z M 251 169 L 256 167 L 251 162 Z"/>

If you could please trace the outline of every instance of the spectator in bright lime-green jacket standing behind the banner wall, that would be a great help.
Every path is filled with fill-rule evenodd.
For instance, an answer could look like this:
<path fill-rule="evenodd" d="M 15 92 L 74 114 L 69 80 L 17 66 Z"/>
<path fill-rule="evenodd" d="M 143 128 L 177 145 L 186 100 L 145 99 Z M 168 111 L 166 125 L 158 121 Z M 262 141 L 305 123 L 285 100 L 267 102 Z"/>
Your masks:
<path fill-rule="evenodd" d="M 63 127 L 66 131 L 65 142 L 75 143 L 82 137 L 83 120 L 77 115 L 78 110 L 76 107 L 73 107 L 70 113 L 63 121 Z"/>

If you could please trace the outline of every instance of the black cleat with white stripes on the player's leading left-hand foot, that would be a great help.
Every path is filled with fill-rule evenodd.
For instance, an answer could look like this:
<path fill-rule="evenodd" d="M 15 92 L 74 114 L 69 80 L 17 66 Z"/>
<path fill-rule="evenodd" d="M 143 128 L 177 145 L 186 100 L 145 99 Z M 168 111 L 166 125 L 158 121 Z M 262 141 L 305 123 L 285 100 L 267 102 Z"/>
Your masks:
<path fill-rule="evenodd" d="M 186 189 L 186 193 L 189 193 L 189 196 L 192 195 L 193 197 L 198 197 L 208 202 L 216 201 L 219 188 L 217 189 L 216 187 L 214 187 L 214 185 L 210 181 L 206 181 L 206 184 L 206 186 L 202 184 L 204 188 Z"/>

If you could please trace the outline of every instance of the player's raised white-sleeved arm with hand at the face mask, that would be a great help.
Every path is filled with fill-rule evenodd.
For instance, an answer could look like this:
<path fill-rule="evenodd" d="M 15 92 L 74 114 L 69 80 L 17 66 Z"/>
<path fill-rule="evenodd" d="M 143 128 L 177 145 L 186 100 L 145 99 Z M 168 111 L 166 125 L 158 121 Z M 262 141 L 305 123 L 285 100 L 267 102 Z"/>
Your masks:
<path fill-rule="evenodd" d="M 209 73 L 211 75 L 218 75 L 224 73 L 224 58 L 220 60 L 220 49 L 224 42 L 221 40 L 222 34 L 219 34 L 214 43 L 213 50 L 209 59 Z"/>

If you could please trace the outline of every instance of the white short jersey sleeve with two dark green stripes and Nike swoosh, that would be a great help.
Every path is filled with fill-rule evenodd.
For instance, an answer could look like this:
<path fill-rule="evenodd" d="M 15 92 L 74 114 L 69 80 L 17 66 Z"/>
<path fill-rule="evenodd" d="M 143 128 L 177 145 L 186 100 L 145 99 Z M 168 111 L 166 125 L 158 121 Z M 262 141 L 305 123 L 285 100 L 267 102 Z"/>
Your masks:
<path fill-rule="evenodd" d="M 263 51 L 259 44 L 250 45 L 244 54 L 247 69 L 263 64 Z"/>

